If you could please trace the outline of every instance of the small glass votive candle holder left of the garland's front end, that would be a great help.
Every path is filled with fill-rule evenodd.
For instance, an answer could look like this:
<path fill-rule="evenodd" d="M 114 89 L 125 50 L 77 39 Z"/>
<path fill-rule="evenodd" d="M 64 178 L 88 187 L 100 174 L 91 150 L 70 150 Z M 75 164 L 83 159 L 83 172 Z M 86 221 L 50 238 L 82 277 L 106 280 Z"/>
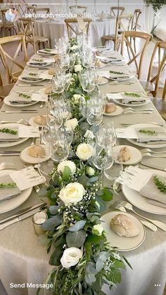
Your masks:
<path fill-rule="evenodd" d="M 43 212 L 37 212 L 33 215 L 32 217 L 32 222 L 34 226 L 34 232 L 37 234 L 37 236 L 40 236 L 43 234 L 45 231 L 41 228 L 41 225 L 48 219 L 48 215 Z"/>

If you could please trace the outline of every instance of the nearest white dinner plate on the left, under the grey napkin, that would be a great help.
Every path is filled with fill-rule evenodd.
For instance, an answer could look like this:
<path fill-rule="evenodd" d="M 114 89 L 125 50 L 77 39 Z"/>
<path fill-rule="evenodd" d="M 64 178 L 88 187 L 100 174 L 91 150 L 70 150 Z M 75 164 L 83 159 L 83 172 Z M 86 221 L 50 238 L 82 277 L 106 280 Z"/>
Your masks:
<path fill-rule="evenodd" d="M 1 170 L 0 177 L 7 175 L 13 171 L 14 170 Z M 1 201 L 0 213 L 5 213 L 17 208 L 29 198 L 31 193 L 32 193 L 32 187 L 30 187 L 30 189 L 23 190 L 20 194 L 18 194 L 18 196 L 14 196 L 10 200 Z"/>

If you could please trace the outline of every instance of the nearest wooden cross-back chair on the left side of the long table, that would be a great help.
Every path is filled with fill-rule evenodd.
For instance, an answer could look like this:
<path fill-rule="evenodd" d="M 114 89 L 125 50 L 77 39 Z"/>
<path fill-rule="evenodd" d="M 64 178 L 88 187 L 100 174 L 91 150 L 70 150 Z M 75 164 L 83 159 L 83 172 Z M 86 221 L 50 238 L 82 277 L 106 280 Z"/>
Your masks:
<path fill-rule="evenodd" d="M 11 56 L 11 54 L 9 54 L 6 50 L 6 45 L 13 46 L 13 43 L 18 44 L 18 46 L 16 46 L 15 53 L 13 53 L 13 56 Z M 18 80 L 18 76 L 22 73 L 24 69 L 23 61 L 21 63 L 17 61 L 18 54 L 20 53 L 21 48 L 23 49 L 23 54 L 24 54 L 23 61 L 26 62 L 27 49 L 25 45 L 24 35 L 14 35 L 14 36 L 0 38 L 0 54 L 1 54 L 1 59 L 4 63 L 5 70 L 6 70 L 8 84 L 16 82 Z M 18 72 L 13 72 L 14 66 L 19 68 Z"/>

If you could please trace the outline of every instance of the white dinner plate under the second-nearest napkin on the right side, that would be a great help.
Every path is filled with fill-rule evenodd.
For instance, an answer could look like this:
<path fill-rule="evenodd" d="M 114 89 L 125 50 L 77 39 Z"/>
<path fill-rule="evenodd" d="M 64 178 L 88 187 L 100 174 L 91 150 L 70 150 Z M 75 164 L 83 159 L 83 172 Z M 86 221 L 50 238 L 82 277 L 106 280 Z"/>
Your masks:
<path fill-rule="evenodd" d="M 129 127 L 127 127 L 127 129 L 129 128 L 144 128 L 144 127 L 156 127 L 156 124 L 135 124 L 135 125 L 131 125 Z M 136 139 L 129 139 L 127 138 L 128 142 L 131 142 L 132 144 L 135 144 L 136 146 L 143 146 L 146 148 L 152 148 L 152 149 L 159 149 L 161 147 L 165 147 L 166 143 L 163 144 L 146 144 L 145 142 L 136 142 Z"/>

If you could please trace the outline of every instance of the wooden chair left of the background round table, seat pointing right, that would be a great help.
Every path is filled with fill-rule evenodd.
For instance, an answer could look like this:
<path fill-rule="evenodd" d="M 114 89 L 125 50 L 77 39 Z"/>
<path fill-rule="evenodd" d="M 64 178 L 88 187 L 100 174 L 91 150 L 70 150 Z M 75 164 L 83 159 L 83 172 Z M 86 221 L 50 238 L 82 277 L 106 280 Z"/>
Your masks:
<path fill-rule="evenodd" d="M 46 44 L 49 48 L 49 38 L 44 36 L 36 36 L 34 34 L 34 22 L 32 18 L 20 18 L 20 24 L 22 27 L 22 34 L 25 36 L 26 46 L 28 43 L 32 44 L 34 53 L 37 52 L 38 44 Z"/>

